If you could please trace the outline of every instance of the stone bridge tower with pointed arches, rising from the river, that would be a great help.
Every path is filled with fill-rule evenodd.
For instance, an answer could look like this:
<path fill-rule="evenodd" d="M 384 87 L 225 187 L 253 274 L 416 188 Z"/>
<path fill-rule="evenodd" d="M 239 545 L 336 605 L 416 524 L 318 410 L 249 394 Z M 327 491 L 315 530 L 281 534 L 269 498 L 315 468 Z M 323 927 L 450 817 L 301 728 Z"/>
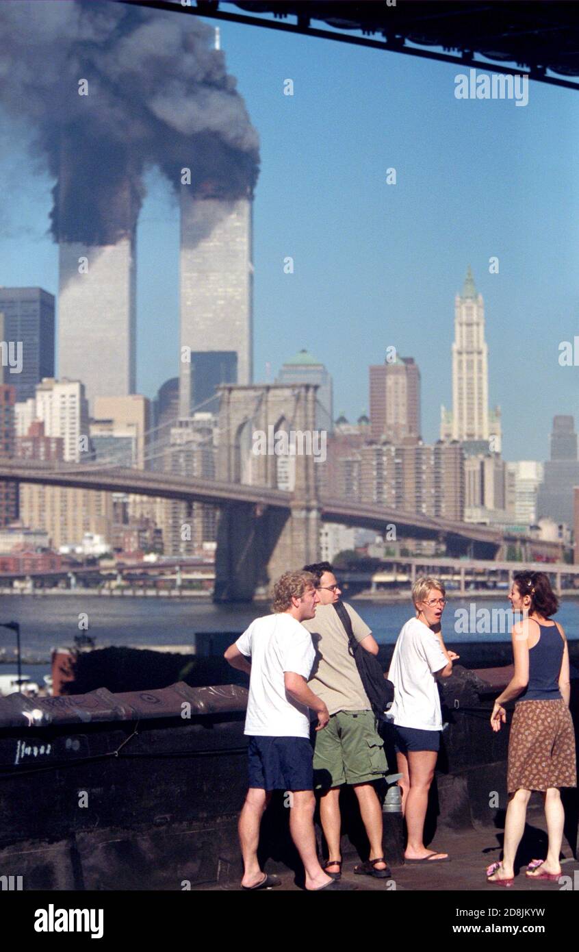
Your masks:
<path fill-rule="evenodd" d="M 217 479 L 292 492 L 287 509 L 230 503 L 218 526 L 215 600 L 250 601 L 279 576 L 318 559 L 319 504 L 312 453 L 276 455 L 274 436 L 312 433 L 312 384 L 220 387 Z M 265 452 L 255 452 L 261 434 Z"/>

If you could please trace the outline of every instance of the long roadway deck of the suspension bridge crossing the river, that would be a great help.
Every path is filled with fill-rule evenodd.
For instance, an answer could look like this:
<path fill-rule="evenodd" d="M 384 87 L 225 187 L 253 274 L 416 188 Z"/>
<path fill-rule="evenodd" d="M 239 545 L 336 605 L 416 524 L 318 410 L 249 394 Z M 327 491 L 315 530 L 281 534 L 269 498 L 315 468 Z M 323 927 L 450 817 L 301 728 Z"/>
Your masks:
<path fill-rule="evenodd" d="M 289 510 L 292 505 L 299 505 L 300 502 L 293 493 L 269 486 L 223 483 L 217 480 L 173 476 L 152 470 L 105 467 L 98 464 L 55 465 L 35 460 L 0 460 L 0 481 L 7 480 L 44 486 L 69 486 L 107 492 L 135 493 L 141 496 L 179 499 L 183 502 L 207 503 L 213 506 L 244 503 Z M 511 538 L 487 526 L 456 523 L 433 516 L 405 513 L 386 506 L 377 506 L 374 503 L 350 503 L 343 499 L 321 498 L 318 504 L 319 517 L 323 522 L 373 528 L 377 531 L 394 525 L 398 537 L 410 536 L 416 539 L 454 537 L 468 542 L 486 544 L 496 550 L 505 540 Z M 513 535 L 512 539 L 519 543 L 537 543 L 537 540 L 520 535 Z M 541 542 L 540 545 L 542 548 L 553 545 L 553 552 L 560 547 L 558 544 L 545 542 Z"/>

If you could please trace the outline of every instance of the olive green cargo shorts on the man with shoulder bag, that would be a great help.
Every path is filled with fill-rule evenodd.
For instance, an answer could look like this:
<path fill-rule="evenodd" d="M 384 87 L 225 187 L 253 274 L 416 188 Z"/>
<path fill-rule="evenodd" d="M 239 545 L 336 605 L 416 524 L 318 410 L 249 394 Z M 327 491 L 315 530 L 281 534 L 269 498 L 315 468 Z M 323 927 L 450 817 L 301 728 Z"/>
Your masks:
<path fill-rule="evenodd" d="M 373 711 L 338 711 L 316 733 L 314 786 L 369 783 L 388 770 Z"/>

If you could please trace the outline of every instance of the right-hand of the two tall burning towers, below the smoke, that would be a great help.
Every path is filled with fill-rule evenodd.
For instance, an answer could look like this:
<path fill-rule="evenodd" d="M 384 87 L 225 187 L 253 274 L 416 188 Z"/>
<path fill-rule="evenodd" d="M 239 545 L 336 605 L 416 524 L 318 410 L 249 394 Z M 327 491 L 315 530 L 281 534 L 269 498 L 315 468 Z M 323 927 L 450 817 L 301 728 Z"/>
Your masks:
<path fill-rule="evenodd" d="M 252 382 L 251 199 L 192 198 L 183 188 L 180 265 L 179 392 L 184 418 L 211 397 L 207 389 Z M 225 379 L 218 380 L 220 376 Z"/>

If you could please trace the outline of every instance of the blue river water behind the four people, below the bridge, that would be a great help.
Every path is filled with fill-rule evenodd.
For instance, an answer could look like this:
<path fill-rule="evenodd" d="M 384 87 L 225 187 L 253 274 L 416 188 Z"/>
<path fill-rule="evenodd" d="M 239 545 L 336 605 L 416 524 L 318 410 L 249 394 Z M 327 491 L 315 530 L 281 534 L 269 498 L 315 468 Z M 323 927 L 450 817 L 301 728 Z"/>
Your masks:
<path fill-rule="evenodd" d="M 380 645 L 394 644 L 401 626 L 414 614 L 408 603 L 384 604 L 352 599 L 370 625 Z M 505 614 L 506 598 L 473 601 L 451 598 L 442 618 L 448 642 L 505 642 L 510 640 L 512 617 Z M 196 632 L 241 632 L 254 618 L 268 613 L 267 605 L 214 605 L 210 601 L 169 598 L 108 598 L 98 595 L 3 595 L 0 622 L 20 623 L 22 653 L 38 657 L 41 664 L 26 664 L 23 671 L 32 680 L 49 673 L 52 647 L 73 644 L 84 629 L 98 647 L 106 645 L 192 645 Z M 87 619 L 85 620 L 85 616 Z M 557 621 L 569 640 L 579 637 L 579 599 L 565 599 Z M 0 648 L 10 653 L 13 632 L 0 628 Z M 0 675 L 15 671 L 13 664 L 0 664 Z"/>

